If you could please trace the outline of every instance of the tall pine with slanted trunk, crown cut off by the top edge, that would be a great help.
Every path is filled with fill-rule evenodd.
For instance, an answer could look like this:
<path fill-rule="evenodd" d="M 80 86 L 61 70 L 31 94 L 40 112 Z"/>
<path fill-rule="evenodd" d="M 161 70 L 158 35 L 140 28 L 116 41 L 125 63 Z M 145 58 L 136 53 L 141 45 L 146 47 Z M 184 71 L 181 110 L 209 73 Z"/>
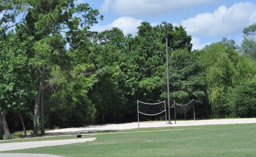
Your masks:
<path fill-rule="evenodd" d="M 29 57 L 35 70 L 40 72 L 33 127 L 33 134 L 37 136 L 39 102 L 47 66 L 58 64 L 61 56 L 65 54 L 65 41 L 61 30 L 67 28 L 67 23 L 73 19 L 74 4 L 73 0 L 27 0 L 27 2 L 30 5 L 28 14 L 24 24 L 18 29 L 35 38 L 34 45 L 30 45 Z"/>

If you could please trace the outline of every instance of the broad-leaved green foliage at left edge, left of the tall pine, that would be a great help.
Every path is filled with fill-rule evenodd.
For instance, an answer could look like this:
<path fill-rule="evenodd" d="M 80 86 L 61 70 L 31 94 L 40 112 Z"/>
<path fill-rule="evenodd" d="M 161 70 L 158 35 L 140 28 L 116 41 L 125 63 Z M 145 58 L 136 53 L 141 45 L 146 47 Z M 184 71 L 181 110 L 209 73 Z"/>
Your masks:
<path fill-rule="evenodd" d="M 0 110 L 22 110 L 31 95 L 26 56 L 30 41 L 20 41 L 13 32 L 0 41 Z"/>

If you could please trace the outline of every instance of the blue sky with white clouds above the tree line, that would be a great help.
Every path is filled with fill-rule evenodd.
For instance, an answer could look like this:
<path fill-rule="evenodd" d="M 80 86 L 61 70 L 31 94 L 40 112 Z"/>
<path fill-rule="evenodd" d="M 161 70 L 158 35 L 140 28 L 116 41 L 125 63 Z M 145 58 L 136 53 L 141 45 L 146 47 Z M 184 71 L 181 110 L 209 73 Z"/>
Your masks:
<path fill-rule="evenodd" d="M 234 39 L 240 46 L 242 31 L 256 23 L 256 0 L 77 0 L 89 3 L 104 16 L 91 30 L 101 32 L 119 27 L 124 34 L 136 35 L 140 23 L 152 26 L 161 21 L 183 26 L 192 36 L 193 49 Z"/>

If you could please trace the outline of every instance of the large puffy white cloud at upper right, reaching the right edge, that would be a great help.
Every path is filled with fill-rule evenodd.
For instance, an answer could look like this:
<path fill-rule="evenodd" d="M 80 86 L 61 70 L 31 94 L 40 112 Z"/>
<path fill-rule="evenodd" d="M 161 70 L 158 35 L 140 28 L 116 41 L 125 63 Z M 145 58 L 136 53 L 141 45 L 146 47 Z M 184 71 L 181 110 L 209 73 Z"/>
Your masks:
<path fill-rule="evenodd" d="M 235 3 L 230 8 L 220 6 L 213 13 L 198 14 L 181 25 L 189 35 L 225 37 L 242 32 L 244 27 L 256 22 L 256 5 L 250 2 Z"/>

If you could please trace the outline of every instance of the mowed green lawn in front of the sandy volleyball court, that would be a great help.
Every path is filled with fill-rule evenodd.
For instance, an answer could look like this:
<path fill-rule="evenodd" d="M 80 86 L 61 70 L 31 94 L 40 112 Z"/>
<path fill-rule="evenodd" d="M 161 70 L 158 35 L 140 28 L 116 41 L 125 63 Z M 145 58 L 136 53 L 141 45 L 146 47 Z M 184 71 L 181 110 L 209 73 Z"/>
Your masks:
<path fill-rule="evenodd" d="M 256 124 L 141 128 L 129 131 L 88 135 L 97 137 L 93 142 L 5 152 L 64 157 L 256 157 Z"/>

